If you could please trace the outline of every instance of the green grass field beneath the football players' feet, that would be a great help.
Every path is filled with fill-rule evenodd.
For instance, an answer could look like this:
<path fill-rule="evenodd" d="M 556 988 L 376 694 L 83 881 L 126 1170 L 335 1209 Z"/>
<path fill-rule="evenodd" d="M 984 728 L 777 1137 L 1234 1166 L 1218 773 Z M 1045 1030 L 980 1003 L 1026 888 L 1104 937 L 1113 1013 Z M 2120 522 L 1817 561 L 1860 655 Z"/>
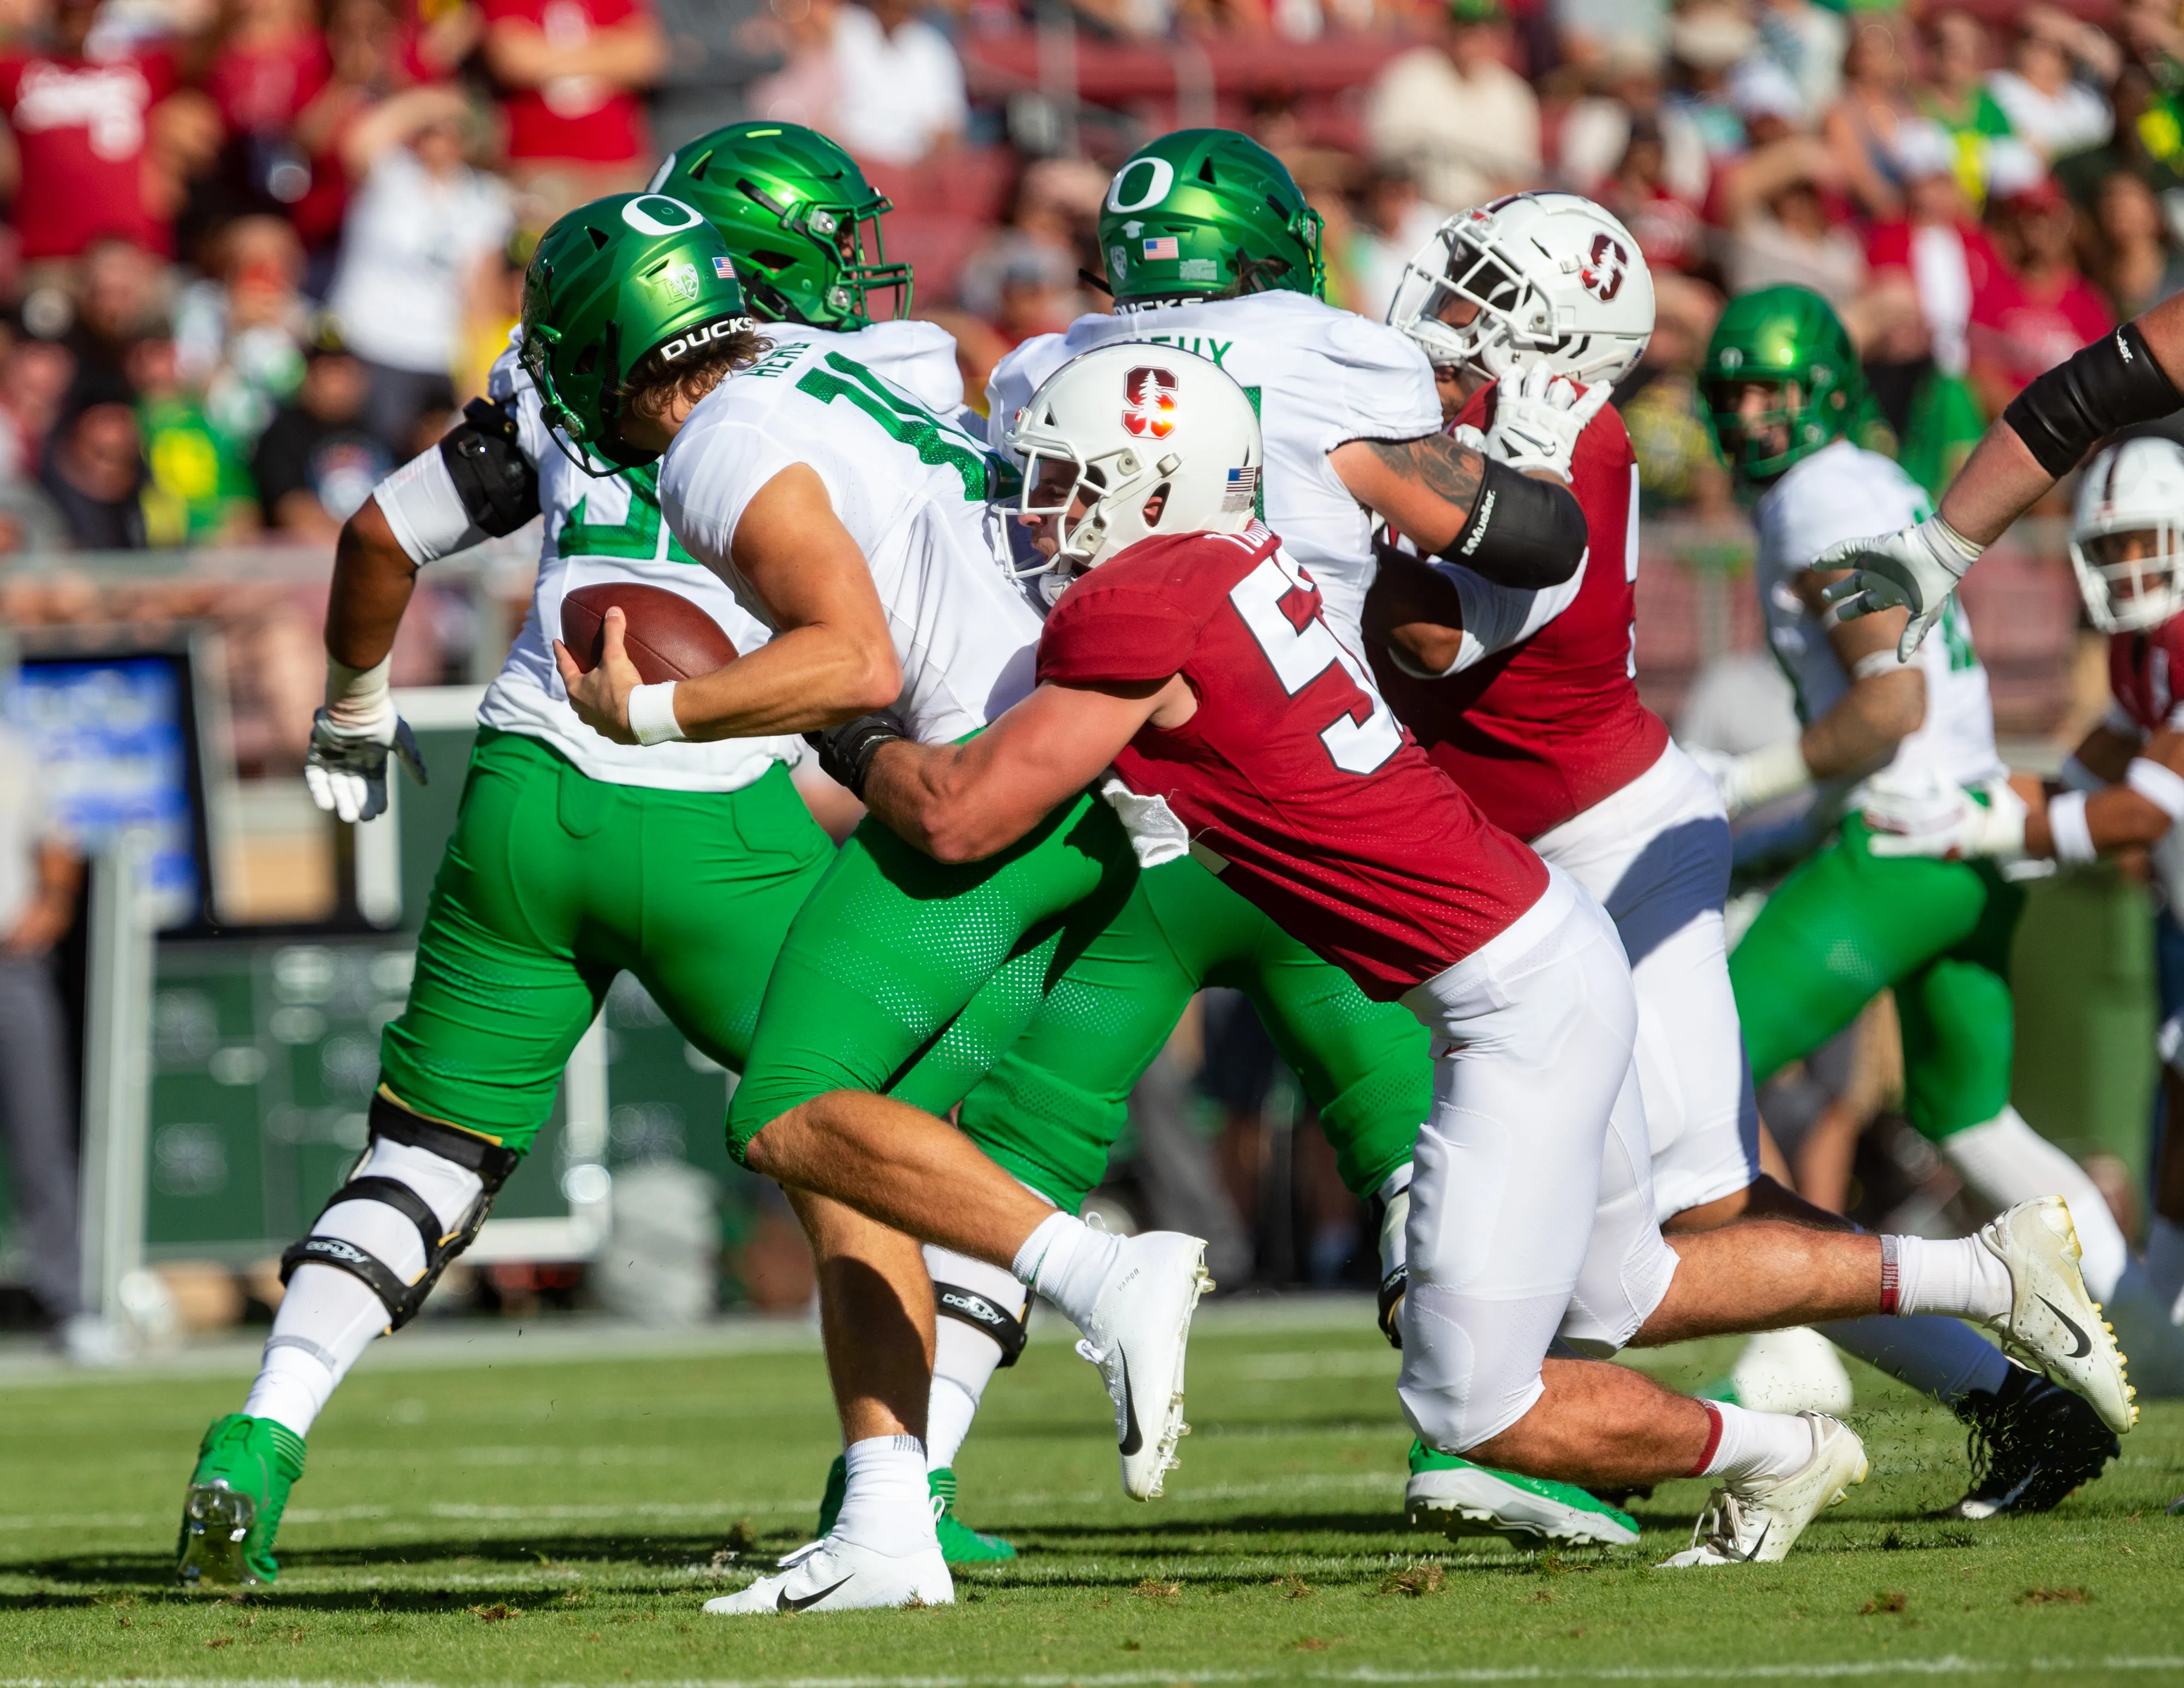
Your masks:
<path fill-rule="evenodd" d="M 1854 1367 L 1872 1481 L 1787 1564 L 1653 1572 L 1704 1485 L 1640 1507 L 1640 1553 L 1406 1533 L 1396 1358 L 1352 1304 L 1203 1315 L 1184 1465 L 1133 1507 L 1096 1376 L 1046 1321 L 959 1465 L 1013 1568 L 959 1577 L 952 1609 L 719 1620 L 701 1601 L 810 1524 L 834 1452 L 817 1352 L 570 1347 L 378 1350 L 253 1598 L 168 1581 L 190 1454 L 247 1363 L 0 1387 L 0 1684 L 2184 1679 L 2184 1406 L 2046 1518 L 1939 1524 L 1961 1433 Z M 1732 1350 L 1660 1365 L 1688 1384 Z"/>

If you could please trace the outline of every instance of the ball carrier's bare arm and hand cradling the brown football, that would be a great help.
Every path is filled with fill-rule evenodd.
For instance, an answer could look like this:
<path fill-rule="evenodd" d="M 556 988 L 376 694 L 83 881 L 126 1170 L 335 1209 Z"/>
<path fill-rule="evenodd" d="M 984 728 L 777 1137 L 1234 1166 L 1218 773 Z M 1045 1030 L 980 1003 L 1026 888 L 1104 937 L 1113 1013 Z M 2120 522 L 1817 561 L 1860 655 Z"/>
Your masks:
<path fill-rule="evenodd" d="M 817 732 L 895 701 L 902 668 L 887 611 L 815 469 L 793 463 L 760 489 L 736 526 L 734 559 L 778 631 L 725 668 L 675 681 L 684 738 Z M 618 745 L 636 745 L 629 694 L 642 679 L 622 627 L 622 611 L 609 609 L 605 655 L 592 673 L 577 668 L 559 640 L 555 664 L 577 716 Z"/>

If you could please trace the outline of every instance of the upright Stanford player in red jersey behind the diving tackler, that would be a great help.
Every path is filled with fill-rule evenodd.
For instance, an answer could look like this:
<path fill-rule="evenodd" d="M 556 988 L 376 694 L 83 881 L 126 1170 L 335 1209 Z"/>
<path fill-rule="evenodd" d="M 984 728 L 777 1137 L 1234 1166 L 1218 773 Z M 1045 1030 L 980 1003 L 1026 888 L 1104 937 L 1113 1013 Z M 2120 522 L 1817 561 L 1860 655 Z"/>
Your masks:
<path fill-rule="evenodd" d="M 1568 871 L 1616 922 L 1638 996 L 1638 1094 L 1662 1229 L 1765 1214 L 1848 1229 L 1760 1173 L 1723 935 L 1728 815 L 1714 782 L 1640 701 L 1631 668 L 1636 472 L 1623 419 L 1601 400 L 1653 332 L 1638 242 L 1579 194 L 1511 194 L 1435 231 L 1406 264 L 1389 321 L 1433 360 L 1459 430 L 1492 428 L 1509 389 L 1542 376 L 1588 382 L 1579 404 L 1594 411 L 1570 452 L 1592 548 L 1568 585 L 1511 592 L 1450 561 L 1385 557 L 1365 607 L 1389 705 L 1489 821 Z M 1817 1347 L 1841 1382 L 1828 1343 L 1795 1334 L 1811 1347 L 1791 1345 L 1791 1332 L 1754 1343 L 1793 1356 Z M 1826 1336 L 1985 1437 L 1959 1515 L 2053 1507 L 2116 1450 L 2077 1395 L 2009 1365 L 1955 1319 L 1870 1315 Z M 1808 1395 L 1802 1404 L 1826 1402 L 1802 1376 L 1787 1382 Z M 1450 1537 L 1638 1540 L 1625 1513 L 1583 1489 L 1509 1481 L 1424 1443 L 1411 1450 L 1404 1509 Z"/>

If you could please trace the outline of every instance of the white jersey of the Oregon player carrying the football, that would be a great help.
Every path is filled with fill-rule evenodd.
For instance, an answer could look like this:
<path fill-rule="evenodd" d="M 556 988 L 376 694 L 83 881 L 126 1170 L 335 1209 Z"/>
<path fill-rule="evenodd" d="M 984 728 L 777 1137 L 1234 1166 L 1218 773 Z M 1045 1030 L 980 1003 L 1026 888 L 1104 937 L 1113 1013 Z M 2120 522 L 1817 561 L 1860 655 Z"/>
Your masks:
<path fill-rule="evenodd" d="M 764 618 L 738 574 L 758 489 L 808 465 L 871 568 L 902 662 L 895 714 L 924 742 L 983 727 L 1031 692 L 1040 618 L 1002 572 L 1007 511 L 985 441 L 841 349 L 788 341 L 721 382 L 660 461 L 668 528 Z"/>

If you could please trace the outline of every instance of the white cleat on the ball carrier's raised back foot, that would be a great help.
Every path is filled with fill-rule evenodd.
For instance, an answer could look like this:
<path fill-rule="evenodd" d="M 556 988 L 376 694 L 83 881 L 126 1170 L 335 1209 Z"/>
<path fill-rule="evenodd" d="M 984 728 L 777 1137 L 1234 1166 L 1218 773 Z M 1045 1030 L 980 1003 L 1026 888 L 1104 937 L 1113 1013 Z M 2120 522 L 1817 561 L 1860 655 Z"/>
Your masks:
<path fill-rule="evenodd" d="M 1184 1424 L 1184 1350 L 1190 1315 L 1214 1286 L 1206 1243 L 1182 1232 L 1125 1236 L 1107 1282 L 1092 1301 L 1077 1352 L 1099 1367 L 1114 1400 L 1114 1439 L 1123 1452 L 1123 1494 L 1151 1500 L 1175 1465 Z"/>

